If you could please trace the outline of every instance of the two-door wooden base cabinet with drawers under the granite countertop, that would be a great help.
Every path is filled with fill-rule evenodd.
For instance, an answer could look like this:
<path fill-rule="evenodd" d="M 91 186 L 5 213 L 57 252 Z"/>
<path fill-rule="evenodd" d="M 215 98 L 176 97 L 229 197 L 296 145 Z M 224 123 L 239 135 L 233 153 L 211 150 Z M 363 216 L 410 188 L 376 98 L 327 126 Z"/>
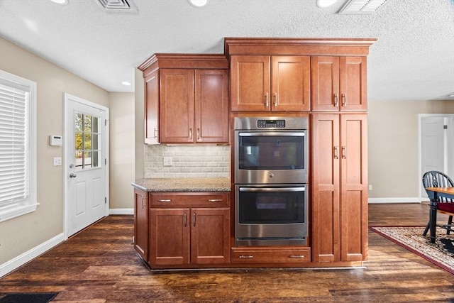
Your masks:
<path fill-rule="evenodd" d="M 216 197 L 216 195 L 218 197 Z M 152 265 L 230 263 L 229 194 L 151 194 L 150 258 Z M 181 207 L 189 201 L 207 207 Z M 221 201 L 220 201 L 221 200 Z M 156 207 L 165 204 L 166 207 Z"/>

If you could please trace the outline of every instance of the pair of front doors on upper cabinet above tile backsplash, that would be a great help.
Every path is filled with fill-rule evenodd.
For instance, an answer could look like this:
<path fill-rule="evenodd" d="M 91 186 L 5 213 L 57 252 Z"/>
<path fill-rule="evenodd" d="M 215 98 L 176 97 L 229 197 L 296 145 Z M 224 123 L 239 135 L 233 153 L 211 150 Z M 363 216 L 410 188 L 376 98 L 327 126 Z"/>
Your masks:
<path fill-rule="evenodd" d="M 227 70 L 160 71 L 161 143 L 228 143 Z"/>

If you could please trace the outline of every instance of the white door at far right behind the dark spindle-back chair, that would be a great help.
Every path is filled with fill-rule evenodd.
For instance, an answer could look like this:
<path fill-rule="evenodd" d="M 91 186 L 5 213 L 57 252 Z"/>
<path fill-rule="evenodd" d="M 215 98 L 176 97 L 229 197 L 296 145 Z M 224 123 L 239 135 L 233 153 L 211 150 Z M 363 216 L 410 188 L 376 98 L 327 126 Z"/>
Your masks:
<path fill-rule="evenodd" d="M 446 172 L 446 144 L 444 117 L 423 117 L 421 119 L 421 170 L 422 174 L 429 170 Z M 422 177 L 422 175 L 421 175 Z M 421 187 L 421 196 L 427 197 L 426 190 Z"/>

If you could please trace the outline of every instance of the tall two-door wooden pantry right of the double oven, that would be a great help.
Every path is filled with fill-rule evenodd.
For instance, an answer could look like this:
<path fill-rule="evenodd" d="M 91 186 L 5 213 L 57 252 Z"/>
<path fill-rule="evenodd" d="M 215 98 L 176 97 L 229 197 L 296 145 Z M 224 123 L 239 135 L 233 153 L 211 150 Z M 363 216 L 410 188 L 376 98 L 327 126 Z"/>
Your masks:
<path fill-rule="evenodd" d="M 367 115 L 312 114 L 314 262 L 367 258 Z"/>

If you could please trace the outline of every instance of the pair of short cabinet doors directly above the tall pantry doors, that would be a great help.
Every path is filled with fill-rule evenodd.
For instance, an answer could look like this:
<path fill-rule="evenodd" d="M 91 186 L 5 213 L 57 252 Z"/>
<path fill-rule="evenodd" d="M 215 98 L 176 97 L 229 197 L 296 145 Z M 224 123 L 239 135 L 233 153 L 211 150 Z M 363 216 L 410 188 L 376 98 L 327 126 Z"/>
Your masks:
<path fill-rule="evenodd" d="M 367 110 L 366 57 L 311 57 L 312 111 Z"/>

